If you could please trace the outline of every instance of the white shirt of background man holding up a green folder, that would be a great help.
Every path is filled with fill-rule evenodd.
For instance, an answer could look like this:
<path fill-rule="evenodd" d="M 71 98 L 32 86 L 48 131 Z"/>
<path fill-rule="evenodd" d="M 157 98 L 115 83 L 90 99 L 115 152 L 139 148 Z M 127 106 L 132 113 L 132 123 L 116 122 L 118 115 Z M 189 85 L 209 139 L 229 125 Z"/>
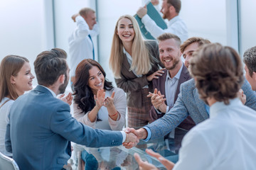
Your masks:
<path fill-rule="evenodd" d="M 163 33 L 172 33 L 181 38 L 181 43 L 188 39 L 188 28 L 179 16 L 172 18 L 165 30 L 157 26 L 147 14 L 142 17 L 142 23 L 144 23 L 146 30 L 148 30 L 154 38 L 158 38 L 159 35 L 162 35 Z"/>

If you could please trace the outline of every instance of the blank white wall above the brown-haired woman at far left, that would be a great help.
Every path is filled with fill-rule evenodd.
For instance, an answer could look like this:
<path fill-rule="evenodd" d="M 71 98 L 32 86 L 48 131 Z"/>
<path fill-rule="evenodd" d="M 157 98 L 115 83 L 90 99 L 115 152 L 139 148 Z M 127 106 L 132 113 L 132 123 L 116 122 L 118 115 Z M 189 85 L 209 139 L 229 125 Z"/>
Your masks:
<path fill-rule="evenodd" d="M 46 5 L 43 0 L 0 1 L 0 60 L 6 55 L 26 57 L 33 72 L 36 56 L 53 45 L 52 27 L 47 25 L 46 14 L 50 11 Z"/>

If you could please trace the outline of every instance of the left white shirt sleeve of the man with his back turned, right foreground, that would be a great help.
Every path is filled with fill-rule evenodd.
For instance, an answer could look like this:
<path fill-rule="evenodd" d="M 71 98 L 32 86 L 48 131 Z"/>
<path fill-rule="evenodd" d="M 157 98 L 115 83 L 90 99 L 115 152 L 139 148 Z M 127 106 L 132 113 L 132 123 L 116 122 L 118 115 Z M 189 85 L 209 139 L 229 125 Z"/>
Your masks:
<path fill-rule="evenodd" d="M 178 154 L 178 162 L 174 170 L 178 169 L 209 169 L 215 160 L 213 147 L 201 132 L 192 129 L 182 140 Z"/>

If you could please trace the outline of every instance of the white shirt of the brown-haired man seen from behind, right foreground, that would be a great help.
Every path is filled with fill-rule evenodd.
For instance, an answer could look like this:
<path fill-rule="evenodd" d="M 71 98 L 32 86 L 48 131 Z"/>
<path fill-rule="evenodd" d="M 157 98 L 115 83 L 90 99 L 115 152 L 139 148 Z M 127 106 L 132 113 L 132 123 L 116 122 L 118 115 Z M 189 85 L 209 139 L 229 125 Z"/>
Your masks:
<path fill-rule="evenodd" d="M 210 118 L 183 138 L 174 169 L 243 169 L 256 167 L 256 112 L 238 98 L 210 106 Z"/>

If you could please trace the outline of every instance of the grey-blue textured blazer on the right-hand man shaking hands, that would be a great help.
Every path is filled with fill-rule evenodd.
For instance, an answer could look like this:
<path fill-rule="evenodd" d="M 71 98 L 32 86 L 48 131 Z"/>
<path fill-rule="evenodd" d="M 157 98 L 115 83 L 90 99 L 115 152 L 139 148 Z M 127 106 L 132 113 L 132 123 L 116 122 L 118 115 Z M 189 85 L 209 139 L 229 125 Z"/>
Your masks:
<path fill-rule="evenodd" d="M 256 111 L 256 94 L 255 91 L 252 91 L 247 80 L 242 85 L 242 90 L 246 95 L 245 106 Z M 151 130 L 151 140 L 164 137 L 171 130 L 174 130 L 188 115 L 191 116 L 196 124 L 209 118 L 205 103 L 199 98 L 194 79 L 181 84 L 180 94 L 178 94 L 174 107 L 164 117 L 146 125 Z"/>

